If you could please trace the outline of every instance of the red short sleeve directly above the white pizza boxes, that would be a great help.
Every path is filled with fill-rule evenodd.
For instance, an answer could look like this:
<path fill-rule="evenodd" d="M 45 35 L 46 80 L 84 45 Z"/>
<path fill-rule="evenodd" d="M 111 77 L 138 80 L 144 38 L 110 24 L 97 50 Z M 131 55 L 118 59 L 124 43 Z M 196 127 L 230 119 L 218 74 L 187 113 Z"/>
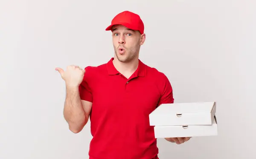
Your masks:
<path fill-rule="evenodd" d="M 170 104 L 170 103 L 174 103 L 174 98 L 173 98 L 173 90 L 172 90 L 172 85 L 169 81 L 169 79 L 166 77 L 166 75 L 163 74 L 163 82 L 161 82 L 161 87 L 162 90 L 161 91 L 161 97 L 160 100 L 158 102 L 158 105 L 161 104 Z"/>

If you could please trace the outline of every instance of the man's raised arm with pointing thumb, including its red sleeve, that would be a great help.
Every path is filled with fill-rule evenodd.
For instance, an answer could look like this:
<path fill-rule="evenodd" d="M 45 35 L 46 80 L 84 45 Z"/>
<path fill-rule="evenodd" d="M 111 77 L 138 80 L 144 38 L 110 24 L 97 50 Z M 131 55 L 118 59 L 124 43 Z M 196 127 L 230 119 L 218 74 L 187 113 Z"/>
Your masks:
<path fill-rule="evenodd" d="M 66 99 L 64 104 L 64 119 L 73 133 L 79 133 L 89 119 L 93 97 L 87 84 L 89 75 L 79 66 L 67 66 L 67 70 L 55 68 L 66 83 Z M 81 100 L 82 99 L 82 100 Z"/>

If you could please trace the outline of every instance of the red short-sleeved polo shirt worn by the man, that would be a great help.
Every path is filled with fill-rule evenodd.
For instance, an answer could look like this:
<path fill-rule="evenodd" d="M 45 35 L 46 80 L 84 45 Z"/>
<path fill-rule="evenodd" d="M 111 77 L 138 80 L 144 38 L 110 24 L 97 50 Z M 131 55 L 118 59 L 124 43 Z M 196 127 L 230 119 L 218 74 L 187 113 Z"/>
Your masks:
<path fill-rule="evenodd" d="M 160 104 L 174 101 L 166 75 L 139 60 L 127 79 L 115 69 L 113 58 L 85 71 L 80 96 L 93 102 L 90 159 L 157 159 L 149 114 Z"/>

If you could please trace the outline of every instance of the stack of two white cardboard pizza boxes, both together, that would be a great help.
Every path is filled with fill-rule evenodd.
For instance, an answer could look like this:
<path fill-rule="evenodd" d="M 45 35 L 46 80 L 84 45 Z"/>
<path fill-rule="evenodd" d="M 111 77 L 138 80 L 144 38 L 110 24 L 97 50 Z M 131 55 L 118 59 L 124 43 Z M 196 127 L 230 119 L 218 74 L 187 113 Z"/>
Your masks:
<path fill-rule="evenodd" d="M 216 102 L 161 104 L 150 115 L 155 138 L 218 135 Z"/>

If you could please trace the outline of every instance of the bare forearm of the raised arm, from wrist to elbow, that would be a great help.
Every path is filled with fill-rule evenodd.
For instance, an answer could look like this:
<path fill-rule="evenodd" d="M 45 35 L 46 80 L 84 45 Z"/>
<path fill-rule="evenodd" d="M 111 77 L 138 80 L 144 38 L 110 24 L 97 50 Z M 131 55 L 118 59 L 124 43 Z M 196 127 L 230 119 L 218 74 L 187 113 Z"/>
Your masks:
<path fill-rule="evenodd" d="M 73 133 L 82 130 L 88 121 L 79 95 L 78 87 L 66 87 L 67 95 L 64 104 L 64 118 L 69 124 L 69 128 Z"/>

